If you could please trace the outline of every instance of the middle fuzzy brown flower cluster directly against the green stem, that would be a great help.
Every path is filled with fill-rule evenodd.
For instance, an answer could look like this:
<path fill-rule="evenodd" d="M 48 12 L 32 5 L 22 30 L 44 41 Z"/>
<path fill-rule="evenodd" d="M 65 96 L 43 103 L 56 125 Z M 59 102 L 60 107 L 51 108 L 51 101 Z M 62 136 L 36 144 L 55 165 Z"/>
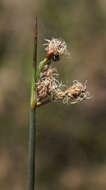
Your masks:
<path fill-rule="evenodd" d="M 57 78 L 56 69 L 45 65 L 36 83 L 37 106 L 43 104 L 47 99 L 53 99 L 54 95 L 61 90 L 63 84 Z"/>

